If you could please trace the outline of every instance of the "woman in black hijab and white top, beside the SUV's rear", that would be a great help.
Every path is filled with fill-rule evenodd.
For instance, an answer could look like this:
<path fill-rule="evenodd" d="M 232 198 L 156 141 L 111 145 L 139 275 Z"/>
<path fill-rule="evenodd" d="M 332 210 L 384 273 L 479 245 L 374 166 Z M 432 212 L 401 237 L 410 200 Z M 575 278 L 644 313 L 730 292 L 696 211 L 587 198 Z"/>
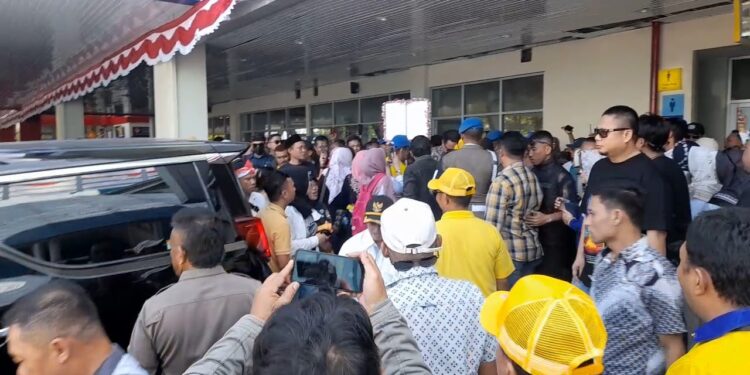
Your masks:
<path fill-rule="evenodd" d="M 296 193 L 285 213 L 289 221 L 294 255 L 297 250 L 317 250 L 322 242 L 328 240 L 328 235 L 318 232 L 317 221 L 321 219 L 321 215 L 314 210 L 315 202 L 309 197 L 317 195 L 314 176 L 305 173 L 303 169 L 290 172 L 289 177 L 294 182 Z"/>

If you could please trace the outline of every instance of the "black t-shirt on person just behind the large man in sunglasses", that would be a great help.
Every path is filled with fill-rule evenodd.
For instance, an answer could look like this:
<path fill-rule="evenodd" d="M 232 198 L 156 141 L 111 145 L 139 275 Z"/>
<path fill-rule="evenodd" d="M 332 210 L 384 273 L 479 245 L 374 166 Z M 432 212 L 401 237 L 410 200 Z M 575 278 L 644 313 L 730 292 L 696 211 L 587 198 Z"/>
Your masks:
<path fill-rule="evenodd" d="M 685 241 L 687 228 L 692 221 L 690 214 L 690 191 L 687 178 L 682 168 L 674 160 L 659 156 L 652 160 L 659 174 L 664 178 L 667 189 L 666 198 L 672 209 L 668 210 L 670 228 L 667 231 L 667 258 L 673 262 L 679 261 L 679 249 Z"/>

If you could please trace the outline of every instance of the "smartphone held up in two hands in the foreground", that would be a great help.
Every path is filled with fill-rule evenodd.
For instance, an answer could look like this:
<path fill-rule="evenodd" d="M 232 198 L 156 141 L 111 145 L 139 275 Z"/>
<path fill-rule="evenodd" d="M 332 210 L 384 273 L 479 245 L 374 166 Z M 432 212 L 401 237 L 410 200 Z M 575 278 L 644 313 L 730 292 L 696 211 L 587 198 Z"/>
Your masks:
<path fill-rule="evenodd" d="M 362 293 L 364 277 L 365 268 L 356 258 L 309 250 L 294 255 L 292 281 L 300 283 L 298 299 L 323 290 Z"/>

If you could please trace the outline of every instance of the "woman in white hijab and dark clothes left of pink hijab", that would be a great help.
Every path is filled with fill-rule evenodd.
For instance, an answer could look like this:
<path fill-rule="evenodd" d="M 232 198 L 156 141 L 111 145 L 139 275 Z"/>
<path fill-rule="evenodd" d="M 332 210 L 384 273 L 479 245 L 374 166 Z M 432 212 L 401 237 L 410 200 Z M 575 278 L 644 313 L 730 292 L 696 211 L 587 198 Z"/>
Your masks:
<path fill-rule="evenodd" d="M 357 201 L 352 180 L 352 150 L 337 147 L 331 152 L 331 160 L 325 176 L 323 197 L 328 196 L 328 209 L 333 215 L 331 245 L 335 251 L 352 236 L 352 214 L 348 207 Z M 327 193 L 327 194 L 326 194 Z"/>

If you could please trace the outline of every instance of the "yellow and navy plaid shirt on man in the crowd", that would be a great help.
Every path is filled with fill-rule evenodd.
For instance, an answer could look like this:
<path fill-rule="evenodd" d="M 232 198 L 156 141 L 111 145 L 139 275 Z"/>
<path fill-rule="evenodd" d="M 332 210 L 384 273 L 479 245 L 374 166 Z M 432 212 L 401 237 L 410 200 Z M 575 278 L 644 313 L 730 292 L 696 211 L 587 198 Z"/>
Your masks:
<path fill-rule="evenodd" d="M 490 185 L 486 220 L 500 231 L 515 261 L 531 262 L 543 255 L 537 229 L 524 220 L 541 204 L 539 181 L 522 162 L 504 168 Z"/>

